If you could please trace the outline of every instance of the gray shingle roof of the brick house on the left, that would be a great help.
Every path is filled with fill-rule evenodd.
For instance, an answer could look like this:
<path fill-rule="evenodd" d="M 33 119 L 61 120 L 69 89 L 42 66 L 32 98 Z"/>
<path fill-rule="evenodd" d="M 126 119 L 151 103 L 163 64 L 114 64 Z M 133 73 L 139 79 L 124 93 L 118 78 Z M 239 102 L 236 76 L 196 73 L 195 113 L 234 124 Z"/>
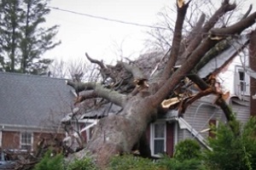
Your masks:
<path fill-rule="evenodd" d="M 66 80 L 0 72 L 0 124 L 44 127 L 71 111 Z"/>

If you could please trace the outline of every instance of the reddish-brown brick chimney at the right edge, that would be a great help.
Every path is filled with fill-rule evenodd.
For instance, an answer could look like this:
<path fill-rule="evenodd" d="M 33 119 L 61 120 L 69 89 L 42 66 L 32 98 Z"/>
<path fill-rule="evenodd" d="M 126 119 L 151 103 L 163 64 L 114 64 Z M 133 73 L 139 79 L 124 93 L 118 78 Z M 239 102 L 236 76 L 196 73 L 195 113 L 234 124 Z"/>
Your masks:
<path fill-rule="evenodd" d="M 250 35 L 249 67 L 256 72 L 256 30 L 254 30 Z M 250 77 L 250 93 L 251 116 L 256 116 L 256 79 L 253 77 Z"/>

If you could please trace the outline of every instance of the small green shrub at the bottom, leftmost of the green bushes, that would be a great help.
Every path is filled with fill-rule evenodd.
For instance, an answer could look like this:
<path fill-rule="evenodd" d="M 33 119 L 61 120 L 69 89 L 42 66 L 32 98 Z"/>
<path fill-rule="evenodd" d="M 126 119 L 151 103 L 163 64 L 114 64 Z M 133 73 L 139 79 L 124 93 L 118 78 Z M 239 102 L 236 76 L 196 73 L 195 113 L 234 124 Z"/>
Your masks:
<path fill-rule="evenodd" d="M 41 161 L 36 164 L 34 170 L 63 170 L 63 156 L 58 154 L 51 156 L 51 151 L 48 150 Z"/>

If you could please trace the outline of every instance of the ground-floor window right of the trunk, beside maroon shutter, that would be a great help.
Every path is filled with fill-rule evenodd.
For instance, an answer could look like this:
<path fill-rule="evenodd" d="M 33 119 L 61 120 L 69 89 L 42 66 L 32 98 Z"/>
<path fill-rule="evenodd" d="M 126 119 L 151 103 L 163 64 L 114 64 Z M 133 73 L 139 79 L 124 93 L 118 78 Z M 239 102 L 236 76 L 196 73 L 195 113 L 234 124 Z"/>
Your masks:
<path fill-rule="evenodd" d="M 151 152 L 153 156 L 166 152 L 166 122 L 151 124 Z"/>

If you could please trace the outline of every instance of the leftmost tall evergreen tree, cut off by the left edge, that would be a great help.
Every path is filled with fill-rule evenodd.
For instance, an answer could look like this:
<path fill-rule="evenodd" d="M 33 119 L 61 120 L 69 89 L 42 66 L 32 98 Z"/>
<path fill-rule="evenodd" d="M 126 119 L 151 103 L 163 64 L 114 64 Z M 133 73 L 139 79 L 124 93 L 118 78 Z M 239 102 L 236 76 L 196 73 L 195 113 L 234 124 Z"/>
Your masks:
<path fill-rule="evenodd" d="M 19 0 L 2 0 L 0 4 L 0 64 L 3 71 L 15 71 L 20 41 L 22 9 Z"/>

